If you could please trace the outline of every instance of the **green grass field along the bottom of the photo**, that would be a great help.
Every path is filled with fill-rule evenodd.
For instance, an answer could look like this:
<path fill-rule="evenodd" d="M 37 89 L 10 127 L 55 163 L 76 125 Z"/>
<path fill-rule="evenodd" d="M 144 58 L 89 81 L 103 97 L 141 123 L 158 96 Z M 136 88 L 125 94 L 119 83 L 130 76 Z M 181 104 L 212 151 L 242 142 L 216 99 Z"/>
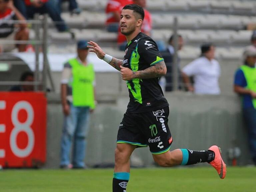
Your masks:
<path fill-rule="evenodd" d="M 111 192 L 113 169 L 2 170 L 0 192 Z M 255 167 L 131 169 L 127 192 L 255 192 Z"/>

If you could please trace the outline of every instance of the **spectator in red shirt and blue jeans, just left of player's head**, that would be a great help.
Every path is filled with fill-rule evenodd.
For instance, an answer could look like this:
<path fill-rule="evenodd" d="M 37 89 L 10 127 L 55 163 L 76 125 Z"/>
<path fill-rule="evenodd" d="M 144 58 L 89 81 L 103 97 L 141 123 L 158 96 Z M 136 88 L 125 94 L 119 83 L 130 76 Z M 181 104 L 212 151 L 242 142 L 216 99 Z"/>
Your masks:
<path fill-rule="evenodd" d="M 108 32 L 117 32 L 120 14 L 125 5 L 132 4 L 132 0 L 109 0 L 106 7 L 106 26 Z"/>

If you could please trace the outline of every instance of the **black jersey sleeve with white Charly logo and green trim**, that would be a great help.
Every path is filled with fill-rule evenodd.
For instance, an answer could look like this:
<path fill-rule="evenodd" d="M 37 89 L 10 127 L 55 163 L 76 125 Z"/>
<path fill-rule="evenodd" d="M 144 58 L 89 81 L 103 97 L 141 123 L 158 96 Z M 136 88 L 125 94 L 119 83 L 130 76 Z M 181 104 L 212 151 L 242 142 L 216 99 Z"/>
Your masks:
<path fill-rule="evenodd" d="M 162 55 L 159 53 L 157 44 L 150 38 L 141 39 L 139 41 L 138 53 L 149 66 L 155 65 L 164 60 Z"/>

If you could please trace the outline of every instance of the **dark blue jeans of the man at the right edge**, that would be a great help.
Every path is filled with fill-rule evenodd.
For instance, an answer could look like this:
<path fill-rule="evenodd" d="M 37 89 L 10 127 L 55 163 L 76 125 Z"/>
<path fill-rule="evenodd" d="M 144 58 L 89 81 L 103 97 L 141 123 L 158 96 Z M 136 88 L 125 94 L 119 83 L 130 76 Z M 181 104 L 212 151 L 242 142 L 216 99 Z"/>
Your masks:
<path fill-rule="evenodd" d="M 248 131 L 249 147 L 253 162 L 256 165 L 256 109 L 247 108 L 243 110 L 244 121 Z"/>

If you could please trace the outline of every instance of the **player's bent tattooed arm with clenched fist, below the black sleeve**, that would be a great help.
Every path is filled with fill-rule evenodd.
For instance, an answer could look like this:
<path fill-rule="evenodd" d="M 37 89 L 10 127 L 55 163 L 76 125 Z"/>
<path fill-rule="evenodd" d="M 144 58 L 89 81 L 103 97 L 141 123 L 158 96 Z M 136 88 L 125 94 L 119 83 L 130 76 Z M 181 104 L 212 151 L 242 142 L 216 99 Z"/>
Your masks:
<path fill-rule="evenodd" d="M 164 61 L 160 61 L 159 63 L 150 66 L 147 69 L 141 71 L 132 71 L 127 67 L 121 66 L 121 75 L 123 80 L 132 80 L 134 78 L 139 79 L 150 79 L 160 77 L 166 74 L 166 66 Z"/>

